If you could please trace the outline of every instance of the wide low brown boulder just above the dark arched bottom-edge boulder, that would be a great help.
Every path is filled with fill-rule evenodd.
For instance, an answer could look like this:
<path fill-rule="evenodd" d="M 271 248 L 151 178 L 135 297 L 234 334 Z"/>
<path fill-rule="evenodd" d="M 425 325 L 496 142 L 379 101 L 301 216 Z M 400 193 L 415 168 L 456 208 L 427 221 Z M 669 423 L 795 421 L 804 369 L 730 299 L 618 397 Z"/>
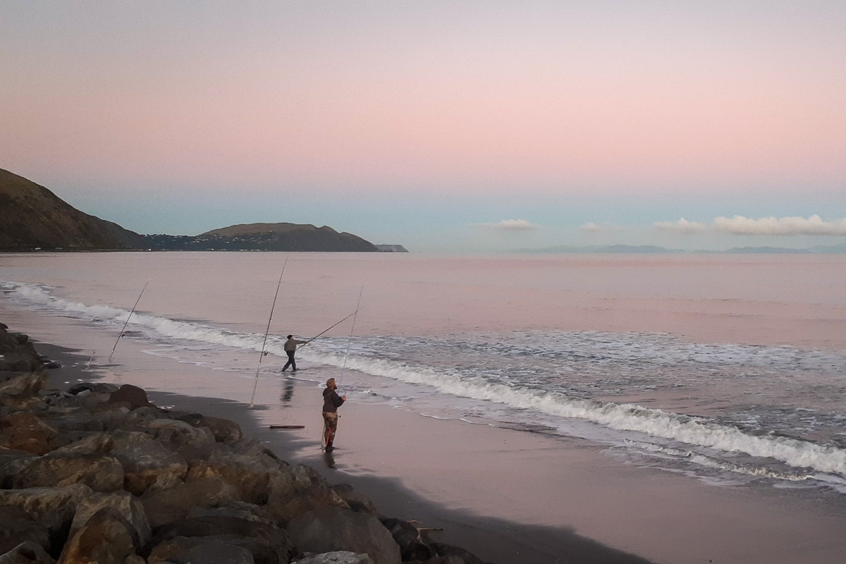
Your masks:
<path fill-rule="evenodd" d="M 214 507 L 222 501 L 241 501 L 244 494 L 224 479 L 195 479 L 171 488 L 150 490 L 141 503 L 151 527 L 158 528 L 188 517 L 195 507 Z"/>

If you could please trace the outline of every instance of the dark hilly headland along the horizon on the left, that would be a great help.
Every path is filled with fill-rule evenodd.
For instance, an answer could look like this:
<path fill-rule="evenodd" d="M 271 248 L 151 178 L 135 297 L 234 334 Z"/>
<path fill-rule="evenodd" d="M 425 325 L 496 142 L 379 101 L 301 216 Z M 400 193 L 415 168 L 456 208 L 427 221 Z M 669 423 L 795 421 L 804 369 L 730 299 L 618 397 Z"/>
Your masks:
<path fill-rule="evenodd" d="M 0 250 L 275 250 L 408 252 L 332 227 L 250 223 L 201 235 L 141 235 L 90 216 L 50 190 L 0 169 Z"/>

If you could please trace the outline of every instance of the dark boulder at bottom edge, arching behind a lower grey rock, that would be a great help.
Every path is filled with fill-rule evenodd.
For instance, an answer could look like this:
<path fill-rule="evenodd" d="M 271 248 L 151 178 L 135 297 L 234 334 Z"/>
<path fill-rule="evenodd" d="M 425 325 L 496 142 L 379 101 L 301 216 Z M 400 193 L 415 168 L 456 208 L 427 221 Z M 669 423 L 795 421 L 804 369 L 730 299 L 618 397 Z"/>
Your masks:
<path fill-rule="evenodd" d="M 293 552 L 288 533 L 283 528 L 232 517 L 196 517 L 170 523 L 159 529 L 151 545 L 158 548 L 162 543 L 179 537 L 243 537 L 254 540 L 251 543 L 244 539 L 237 542 L 252 551 L 256 562 L 270 564 L 274 561 L 287 563 Z M 151 556 L 153 553 L 162 555 L 162 551 L 157 548 Z M 152 561 L 152 558 L 149 560 Z"/>

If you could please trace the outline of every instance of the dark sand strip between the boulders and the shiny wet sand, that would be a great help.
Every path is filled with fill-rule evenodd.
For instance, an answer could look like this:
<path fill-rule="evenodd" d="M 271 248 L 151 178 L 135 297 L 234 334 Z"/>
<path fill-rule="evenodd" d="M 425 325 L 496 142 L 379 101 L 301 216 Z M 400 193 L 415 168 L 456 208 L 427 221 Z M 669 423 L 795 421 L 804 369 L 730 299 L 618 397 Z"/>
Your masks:
<path fill-rule="evenodd" d="M 77 381 L 106 381 L 102 379 L 102 375 L 96 375 L 96 372 L 81 370 L 85 360 L 85 353 L 82 351 L 41 342 L 35 337 L 31 337 L 31 340 L 40 353 L 62 364 L 61 369 L 48 372 L 51 387 L 66 389 Z M 426 500 L 397 479 L 375 475 L 338 474 L 327 467 L 327 455 L 298 454 L 301 443 L 311 441 L 298 438 L 290 431 L 270 430 L 255 416 L 261 412 L 251 411 L 246 403 L 219 397 L 195 397 L 156 390 L 146 392 L 151 402 L 160 407 L 173 406 L 179 411 L 213 413 L 217 418 L 235 421 L 244 431 L 245 438 L 266 443 L 272 452 L 283 460 L 304 463 L 315 468 L 330 484 L 352 485 L 354 490 L 370 498 L 376 508 L 385 515 L 419 521 L 421 526 L 426 528 L 442 528 L 442 531 L 432 532 L 431 538 L 449 545 L 461 546 L 484 561 L 496 564 L 649 563 L 645 558 L 602 545 L 568 528 L 510 523 L 503 519 L 446 507 Z"/>

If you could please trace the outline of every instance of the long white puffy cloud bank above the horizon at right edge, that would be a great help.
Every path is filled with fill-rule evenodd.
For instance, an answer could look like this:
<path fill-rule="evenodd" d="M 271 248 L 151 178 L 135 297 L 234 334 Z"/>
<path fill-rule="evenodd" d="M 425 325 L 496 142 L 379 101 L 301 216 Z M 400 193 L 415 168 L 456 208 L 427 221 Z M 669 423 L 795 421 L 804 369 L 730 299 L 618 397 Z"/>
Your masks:
<path fill-rule="evenodd" d="M 711 223 L 689 222 L 684 217 L 678 222 L 657 222 L 654 227 L 675 233 L 702 233 L 712 231 L 732 235 L 846 235 L 846 217 L 823 221 L 820 216 L 810 217 L 715 217 Z"/>

